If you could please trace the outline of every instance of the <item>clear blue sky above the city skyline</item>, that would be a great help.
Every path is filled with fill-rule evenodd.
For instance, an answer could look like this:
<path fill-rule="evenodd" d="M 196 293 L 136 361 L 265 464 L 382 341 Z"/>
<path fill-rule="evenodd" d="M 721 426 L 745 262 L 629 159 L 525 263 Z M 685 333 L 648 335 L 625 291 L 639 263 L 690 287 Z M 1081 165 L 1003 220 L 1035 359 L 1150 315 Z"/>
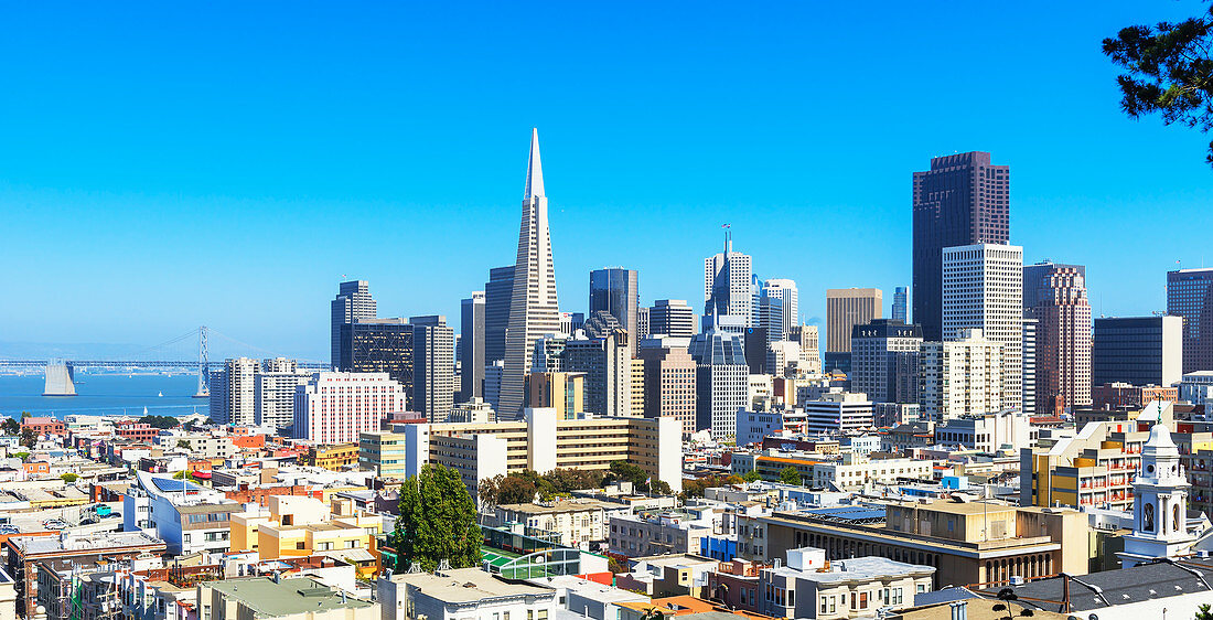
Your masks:
<path fill-rule="evenodd" d="M 808 319 L 826 288 L 892 298 L 911 172 L 990 150 L 1026 258 L 1146 313 L 1209 246 L 1208 138 L 1123 118 L 1099 46 L 1202 6 L 13 4 L 0 341 L 207 324 L 323 359 L 343 274 L 454 322 L 514 260 L 531 126 L 563 309 L 606 265 L 697 306 L 723 222 Z"/>

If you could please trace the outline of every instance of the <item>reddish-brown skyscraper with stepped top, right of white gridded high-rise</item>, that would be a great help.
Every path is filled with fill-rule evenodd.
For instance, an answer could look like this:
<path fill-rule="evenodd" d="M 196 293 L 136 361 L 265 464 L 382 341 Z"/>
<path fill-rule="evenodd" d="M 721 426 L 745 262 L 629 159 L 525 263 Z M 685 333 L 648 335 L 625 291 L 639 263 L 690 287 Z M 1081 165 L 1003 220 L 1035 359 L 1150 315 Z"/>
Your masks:
<path fill-rule="evenodd" d="M 1036 324 L 1036 410 L 1090 404 L 1090 303 L 1087 268 L 1041 262 L 1024 267 L 1024 317 Z"/>

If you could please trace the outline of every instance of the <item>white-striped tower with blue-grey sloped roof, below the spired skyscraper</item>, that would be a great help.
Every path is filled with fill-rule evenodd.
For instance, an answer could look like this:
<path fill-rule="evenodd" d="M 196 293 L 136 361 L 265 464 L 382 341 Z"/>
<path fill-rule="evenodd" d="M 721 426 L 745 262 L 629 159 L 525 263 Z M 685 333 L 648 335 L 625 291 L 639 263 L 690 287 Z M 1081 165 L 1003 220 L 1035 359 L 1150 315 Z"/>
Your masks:
<path fill-rule="evenodd" d="M 696 334 L 689 353 L 695 359 L 695 431 L 711 430 L 713 439 L 736 431 L 738 411 L 748 408 L 750 366 L 741 337 L 719 329 Z"/>

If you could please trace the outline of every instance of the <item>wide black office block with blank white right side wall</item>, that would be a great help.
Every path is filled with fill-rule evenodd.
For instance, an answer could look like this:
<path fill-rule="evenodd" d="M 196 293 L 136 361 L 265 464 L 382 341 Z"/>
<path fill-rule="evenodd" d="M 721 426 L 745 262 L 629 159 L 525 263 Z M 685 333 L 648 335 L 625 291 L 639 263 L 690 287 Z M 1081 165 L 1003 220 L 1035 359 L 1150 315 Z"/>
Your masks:
<path fill-rule="evenodd" d="M 1098 318 L 1090 359 L 1093 385 L 1171 386 L 1184 374 L 1184 318 Z"/>

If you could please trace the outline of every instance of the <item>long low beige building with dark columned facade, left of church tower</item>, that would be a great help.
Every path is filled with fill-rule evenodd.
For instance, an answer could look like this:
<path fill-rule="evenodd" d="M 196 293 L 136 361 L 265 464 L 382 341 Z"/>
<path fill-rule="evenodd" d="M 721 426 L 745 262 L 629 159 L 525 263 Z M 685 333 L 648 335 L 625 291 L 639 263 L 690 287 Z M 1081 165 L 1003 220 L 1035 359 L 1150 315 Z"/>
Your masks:
<path fill-rule="evenodd" d="M 995 502 L 776 511 L 738 523 L 738 552 L 748 559 L 773 562 L 801 547 L 822 548 L 827 559 L 879 556 L 934 567 L 935 587 L 1084 575 L 1093 545 L 1087 516 L 1078 511 Z"/>

